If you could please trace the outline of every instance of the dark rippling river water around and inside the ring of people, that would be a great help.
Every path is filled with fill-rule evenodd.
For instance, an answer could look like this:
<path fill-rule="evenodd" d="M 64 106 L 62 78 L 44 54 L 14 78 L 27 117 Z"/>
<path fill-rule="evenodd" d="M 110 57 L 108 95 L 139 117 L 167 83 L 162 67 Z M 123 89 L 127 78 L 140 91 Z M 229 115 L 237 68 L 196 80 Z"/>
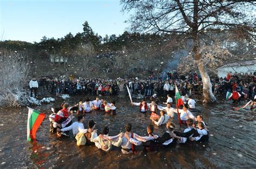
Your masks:
<path fill-rule="evenodd" d="M 78 101 L 71 97 L 66 102 Z M 89 119 L 97 122 L 98 132 L 109 126 L 109 135 L 124 132 L 125 123 L 131 123 L 133 131 L 146 134 L 146 126 L 151 123 L 150 114 L 141 114 L 138 107 L 131 107 L 126 98 L 106 98 L 116 100 L 117 115 L 104 115 L 92 112 L 85 116 L 85 127 Z M 50 114 L 51 107 L 59 107 L 61 98 L 55 103 L 32 107 Z M 120 147 L 106 153 L 96 146 L 76 146 L 75 139 L 57 138 L 49 132 L 49 120 L 45 118 L 37 130 L 34 142 L 26 141 L 26 122 L 28 109 L 0 108 L 0 168 L 10 167 L 53 167 L 53 168 L 255 168 L 255 112 L 250 110 L 234 111 L 231 103 L 220 102 L 214 105 L 198 104 L 204 121 L 210 130 L 210 142 L 207 144 L 177 145 L 157 152 L 143 152 L 136 146 L 137 154 L 121 153 Z M 47 117 L 47 116 L 46 116 Z M 178 126 L 177 115 L 174 122 Z M 165 127 L 155 126 L 160 136 Z M 181 129 L 178 129 L 181 131 Z M 183 129 L 182 129 L 183 130 Z"/>

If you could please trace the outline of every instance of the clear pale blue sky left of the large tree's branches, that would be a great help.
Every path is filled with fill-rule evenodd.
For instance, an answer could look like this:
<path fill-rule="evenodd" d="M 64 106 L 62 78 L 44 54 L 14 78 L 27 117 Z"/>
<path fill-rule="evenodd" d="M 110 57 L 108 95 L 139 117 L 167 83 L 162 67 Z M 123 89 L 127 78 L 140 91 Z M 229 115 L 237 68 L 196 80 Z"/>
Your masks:
<path fill-rule="evenodd" d="M 0 40 L 33 43 L 83 32 L 87 20 L 100 36 L 122 34 L 129 14 L 119 0 L 0 0 Z"/>

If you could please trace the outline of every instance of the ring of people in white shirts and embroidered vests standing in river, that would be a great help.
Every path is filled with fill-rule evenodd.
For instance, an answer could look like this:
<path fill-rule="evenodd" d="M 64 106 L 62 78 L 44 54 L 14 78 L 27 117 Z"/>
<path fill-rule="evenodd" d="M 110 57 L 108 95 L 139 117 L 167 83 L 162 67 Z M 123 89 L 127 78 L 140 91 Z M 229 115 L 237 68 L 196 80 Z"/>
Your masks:
<path fill-rule="evenodd" d="M 136 105 L 141 113 L 150 112 L 152 124 L 147 125 L 147 136 L 139 136 L 132 131 L 130 123 L 125 124 L 125 132 L 120 132 L 117 136 L 109 136 L 109 127 L 105 126 L 103 131 L 98 135 L 96 122 L 90 120 L 85 129 L 83 122 L 84 115 L 91 111 L 105 111 L 107 114 L 116 115 L 115 102 L 108 103 L 106 100 L 85 102 L 79 100 L 79 103 L 70 106 L 69 103 L 63 103 L 60 108 L 52 108 L 53 113 L 49 116 L 50 131 L 56 132 L 58 137 L 69 136 L 69 131 L 72 130 L 73 136 L 77 140 L 77 145 L 95 145 L 103 151 L 110 151 L 112 146 L 121 147 L 122 153 L 136 153 L 135 145 L 144 146 L 145 151 L 157 151 L 160 147 L 174 146 L 186 142 L 207 142 L 208 129 L 203 121 L 202 115 L 194 116 L 193 111 L 196 110 L 192 98 L 181 97 L 183 105 L 177 109 L 172 108 L 172 98 L 167 95 L 166 102 L 163 105 L 156 104 L 154 100 L 147 103 L 146 100 L 141 102 L 132 102 L 132 106 Z M 192 111 L 192 112 L 191 112 Z M 177 128 L 173 122 L 174 114 L 177 113 L 180 127 L 185 125 L 184 132 L 175 131 Z M 74 115 L 77 116 L 77 121 L 72 123 Z M 166 125 L 166 132 L 163 136 L 158 136 L 154 133 L 153 125 Z"/>

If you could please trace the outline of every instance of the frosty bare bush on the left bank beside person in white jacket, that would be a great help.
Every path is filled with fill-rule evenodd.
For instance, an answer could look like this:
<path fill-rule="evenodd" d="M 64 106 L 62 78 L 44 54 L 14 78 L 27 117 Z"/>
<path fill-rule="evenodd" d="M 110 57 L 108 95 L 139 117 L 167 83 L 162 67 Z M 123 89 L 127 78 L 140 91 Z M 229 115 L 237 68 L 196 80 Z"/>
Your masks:
<path fill-rule="evenodd" d="M 26 85 L 30 66 L 23 53 L 2 51 L 0 67 L 0 105 L 29 104 L 30 97 L 26 92 Z"/>

